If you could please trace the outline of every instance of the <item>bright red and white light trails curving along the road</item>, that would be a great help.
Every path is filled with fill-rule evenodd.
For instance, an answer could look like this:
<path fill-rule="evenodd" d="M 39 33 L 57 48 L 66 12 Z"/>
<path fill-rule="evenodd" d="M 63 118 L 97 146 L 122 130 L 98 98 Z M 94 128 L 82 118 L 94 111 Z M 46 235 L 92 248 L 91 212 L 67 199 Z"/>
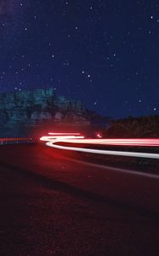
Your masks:
<path fill-rule="evenodd" d="M 94 145 L 111 145 L 111 146 L 144 146 L 144 147 L 158 147 L 159 139 L 87 139 L 81 136 L 80 133 L 48 133 L 49 136 L 41 137 L 40 140 L 47 142 L 46 145 L 51 148 L 58 148 L 63 150 L 77 151 L 91 154 L 110 154 L 117 156 L 130 156 L 149 159 L 159 159 L 159 154 L 141 153 L 141 152 L 125 152 L 116 150 L 103 150 L 92 148 L 80 148 L 68 146 L 68 143 L 79 144 L 94 144 Z M 57 143 L 67 143 L 67 146 L 59 145 Z"/>

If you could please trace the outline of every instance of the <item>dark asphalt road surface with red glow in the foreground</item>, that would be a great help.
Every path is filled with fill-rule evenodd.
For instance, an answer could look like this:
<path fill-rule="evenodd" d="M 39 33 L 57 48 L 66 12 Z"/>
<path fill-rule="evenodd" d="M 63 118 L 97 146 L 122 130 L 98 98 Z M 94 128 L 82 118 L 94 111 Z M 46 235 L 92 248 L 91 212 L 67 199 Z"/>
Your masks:
<path fill-rule="evenodd" d="M 159 255 L 159 178 L 70 157 L 0 147 L 0 255 Z"/>

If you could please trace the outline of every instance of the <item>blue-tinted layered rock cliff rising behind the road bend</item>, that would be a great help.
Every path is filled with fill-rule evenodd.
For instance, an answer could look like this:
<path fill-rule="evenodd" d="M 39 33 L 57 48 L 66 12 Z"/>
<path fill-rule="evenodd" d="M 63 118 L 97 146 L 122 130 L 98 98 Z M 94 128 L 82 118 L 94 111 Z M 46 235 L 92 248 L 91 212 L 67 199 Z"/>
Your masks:
<path fill-rule="evenodd" d="M 54 89 L 0 94 L 0 137 L 30 136 L 46 127 L 88 126 L 82 102 L 55 96 Z"/>

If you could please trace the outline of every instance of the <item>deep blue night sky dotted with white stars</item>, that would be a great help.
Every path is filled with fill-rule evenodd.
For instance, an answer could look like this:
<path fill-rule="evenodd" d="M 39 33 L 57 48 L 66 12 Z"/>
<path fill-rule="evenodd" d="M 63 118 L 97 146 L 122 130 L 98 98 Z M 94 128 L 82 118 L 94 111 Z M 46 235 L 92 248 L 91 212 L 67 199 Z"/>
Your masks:
<path fill-rule="evenodd" d="M 121 118 L 159 113 L 158 0 L 0 0 L 0 92 L 54 87 Z"/>

